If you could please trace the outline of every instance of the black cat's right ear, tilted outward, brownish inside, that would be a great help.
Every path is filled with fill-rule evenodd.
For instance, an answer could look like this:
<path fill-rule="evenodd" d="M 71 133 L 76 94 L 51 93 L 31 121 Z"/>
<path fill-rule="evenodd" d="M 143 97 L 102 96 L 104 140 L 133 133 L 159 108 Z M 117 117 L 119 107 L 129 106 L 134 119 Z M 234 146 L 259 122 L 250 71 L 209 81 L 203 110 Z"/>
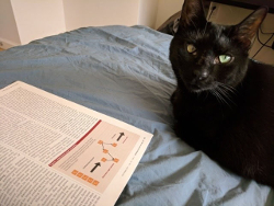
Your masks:
<path fill-rule="evenodd" d="M 269 9 L 265 7 L 259 8 L 241 23 L 235 26 L 233 37 L 241 42 L 244 48 L 250 48 L 251 41 L 255 36 L 261 23 L 267 14 L 267 11 Z"/>

